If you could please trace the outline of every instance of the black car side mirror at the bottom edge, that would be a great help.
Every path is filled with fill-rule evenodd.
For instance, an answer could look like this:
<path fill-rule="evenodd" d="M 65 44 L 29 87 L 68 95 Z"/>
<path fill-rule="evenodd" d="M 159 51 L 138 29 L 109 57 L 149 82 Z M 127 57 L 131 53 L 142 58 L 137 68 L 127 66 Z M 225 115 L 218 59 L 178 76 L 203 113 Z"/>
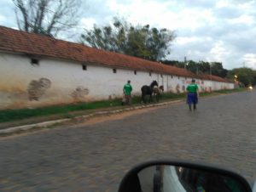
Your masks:
<path fill-rule="evenodd" d="M 151 161 L 131 169 L 119 192 L 252 192 L 235 172 L 180 161 Z"/>

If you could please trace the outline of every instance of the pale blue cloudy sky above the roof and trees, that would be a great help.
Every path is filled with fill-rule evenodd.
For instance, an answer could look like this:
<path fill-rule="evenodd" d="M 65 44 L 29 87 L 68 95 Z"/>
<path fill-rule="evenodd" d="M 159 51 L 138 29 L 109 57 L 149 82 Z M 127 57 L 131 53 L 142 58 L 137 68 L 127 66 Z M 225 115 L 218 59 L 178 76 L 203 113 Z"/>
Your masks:
<path fill-rule="evenodd" d="M 176 31 L 167 59 L 186 56 L 222 62 L 226 69 L 243 65 L 256 69 L 256 0 L 85 0 L 73 32 L 106 25 L 117 15 L 133 25 Z M 17 28 L 12 0 L 0 1 L 0 25 Z M 59 38 L 76 41 L 78 37 L 61 34 Z"/>

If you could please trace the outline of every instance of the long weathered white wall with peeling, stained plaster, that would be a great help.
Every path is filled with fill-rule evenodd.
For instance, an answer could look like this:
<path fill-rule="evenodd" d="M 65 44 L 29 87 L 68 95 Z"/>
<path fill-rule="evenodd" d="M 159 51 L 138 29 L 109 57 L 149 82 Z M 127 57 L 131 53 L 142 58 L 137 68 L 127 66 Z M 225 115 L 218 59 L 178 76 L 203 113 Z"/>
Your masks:
<path fill-rule="evenodd" d="M 83 65 L 84 69 L 83 69 Z M 18 54 L 0 53 L 0 109 L 31 108 L 50 104 L 113 99 L 121 97 L 122 88 L 131 80 L 134 93 L 140 94 L 143 85 L 157 80 L 165 91 L 181 93 L 191 78 L 160 75 L 80 64 L 55 59 L 31 58 Z M 86 69 L 85 69 L 86 68 Z M 232 83 L 197 80 L 201 90 L 234 88 Z"/>

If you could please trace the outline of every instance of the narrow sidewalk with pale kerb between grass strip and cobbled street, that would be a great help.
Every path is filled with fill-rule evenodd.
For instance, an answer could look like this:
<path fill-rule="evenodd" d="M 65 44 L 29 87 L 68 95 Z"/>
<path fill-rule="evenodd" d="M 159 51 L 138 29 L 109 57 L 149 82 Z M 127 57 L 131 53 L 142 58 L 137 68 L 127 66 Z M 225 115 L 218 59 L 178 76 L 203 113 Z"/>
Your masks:
<path fill-rule="evenodd" d="M 60 114 L 60 115 L 54 115 L 54 116 L 40 116 L 40 117 L 33 117 L 33 118 L 28 118 L 20 121 L 3 122 L 3 123 L 0 123 L 0 136 L 3 134 L 26 131 L 32 128 L 54 126 L 55 124 L 58 124 L 58 123 L 72 121 L 76 119 L 83 119 L 84 121 L 86 121 L 87 119 L 93 116 L 117 114 L 120 112 L 129 111 L 129 110 L 139 110 L 143 108 L 164 106 L 167 104 L 179 103 L 181 101 L 182 99 L 178 99 L 178 100 L 171 100 L 171 101 L 154 103 L 154 104 L 135 104 L 135 105 L 117 106 L 117 107 L 97 109 L 97 110 L 82 110 L 82 111 L 74 111 L 66 115 Z"/>

